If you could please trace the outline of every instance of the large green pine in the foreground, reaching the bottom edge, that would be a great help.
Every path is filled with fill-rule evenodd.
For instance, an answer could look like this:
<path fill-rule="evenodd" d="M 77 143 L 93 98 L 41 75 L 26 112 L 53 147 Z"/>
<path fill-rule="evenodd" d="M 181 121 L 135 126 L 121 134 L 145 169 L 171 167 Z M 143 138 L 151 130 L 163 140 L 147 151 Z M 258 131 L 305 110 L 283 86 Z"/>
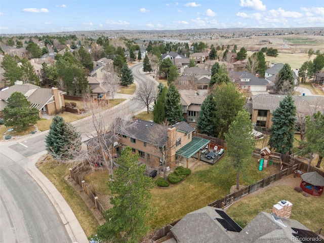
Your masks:
<path fill-rule="evenodd" d="M 144 175 L 146 165 L 138 166 L 138 156 L 126 147 L 117 159 L 119 167 L 108 184 L 114 195 L 110 198 L 113 207 L 104 212 L 106 222 L 97 232 L 105 242 L 136 243 L 150 230 L 149 221 L 154 215 L 150 190 L 154 182 Z"/>

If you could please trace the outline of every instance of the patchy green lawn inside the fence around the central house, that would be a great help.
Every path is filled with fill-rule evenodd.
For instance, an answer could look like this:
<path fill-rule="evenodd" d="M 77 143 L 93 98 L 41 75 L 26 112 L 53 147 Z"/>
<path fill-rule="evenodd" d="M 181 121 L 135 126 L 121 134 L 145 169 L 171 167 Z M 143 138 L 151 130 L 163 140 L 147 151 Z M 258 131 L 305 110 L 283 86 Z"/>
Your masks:
<path fill-rule="evenodd" d="M 198 166 L 187 179 L 177 185 L 152 189 L 152 205 L 157 209 L 157 213 L 150 222 L 151 227 L 165 226 L 229 194 L 231 186 L 236 184 L 236 173 L 229 163 L 229 157 L 225 155 L 214 166 L 208 164 Z M 258 159 L 252 158 L 246 172 L 240 177 L 240 184 L 253 184 L 277 172 L 276 166 L 259 171 Z M 105 194 L 108 181 L 106 174 L 96 171 L 87 176 L 85 180 L 95 188 L 98 194 Z"/>

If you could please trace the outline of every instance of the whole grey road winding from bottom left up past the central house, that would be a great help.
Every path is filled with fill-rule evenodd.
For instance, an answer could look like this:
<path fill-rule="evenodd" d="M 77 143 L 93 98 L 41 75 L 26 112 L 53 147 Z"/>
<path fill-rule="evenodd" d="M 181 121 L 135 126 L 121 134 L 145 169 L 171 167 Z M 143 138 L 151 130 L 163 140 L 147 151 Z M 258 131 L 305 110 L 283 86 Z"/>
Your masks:
<path fill-rule="evenodd" d="M 145 79 L 157 85 L 150 75 L 142 71 L 142 67 L 142 63 L 130 67 L 137 87 Z M 142 109 L 139 102 L 128 100 L 107 110 L 104 115 L 109 122 Z M 73 125 L 84 136 L 94 131 L 91 117 L 75 121 Z M 51 200 L 26 172 L 30 156 L 45 150 L 46 134 L 0 144 L 0 242 L 71 242 Z"/>

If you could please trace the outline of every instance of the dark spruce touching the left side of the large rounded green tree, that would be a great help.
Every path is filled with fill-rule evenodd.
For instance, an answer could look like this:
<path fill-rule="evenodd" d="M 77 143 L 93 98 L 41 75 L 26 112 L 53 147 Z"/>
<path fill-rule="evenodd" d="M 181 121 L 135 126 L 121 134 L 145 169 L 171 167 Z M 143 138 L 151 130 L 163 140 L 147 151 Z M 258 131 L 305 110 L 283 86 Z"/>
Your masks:
<path fill-rule="evenodd" d="M 200 106 L 197 128 L 201 133 L 212 135 L 214 132 L 215 106 L 213 94 L 209 94 Z"/>

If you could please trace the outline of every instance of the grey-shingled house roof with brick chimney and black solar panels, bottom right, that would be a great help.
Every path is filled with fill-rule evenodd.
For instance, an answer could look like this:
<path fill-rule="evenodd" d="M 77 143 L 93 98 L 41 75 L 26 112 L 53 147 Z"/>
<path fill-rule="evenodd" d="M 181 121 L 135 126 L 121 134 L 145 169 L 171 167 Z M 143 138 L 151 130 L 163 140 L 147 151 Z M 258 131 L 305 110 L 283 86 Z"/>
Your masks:
<path fill-rule="evenodd" d="M 293 204 L 281 200 L 272 213 L 260 212 L 241 228 L 222 209 L 207 206 L 184 216 L 171 228 L 174 243 L 321 242 L 322 238 L 297 220 L 290 219 Z M 302 238 L 312 238 L 303 241 Z M 317 239 L 317 240 L 316 240 Z"/>

